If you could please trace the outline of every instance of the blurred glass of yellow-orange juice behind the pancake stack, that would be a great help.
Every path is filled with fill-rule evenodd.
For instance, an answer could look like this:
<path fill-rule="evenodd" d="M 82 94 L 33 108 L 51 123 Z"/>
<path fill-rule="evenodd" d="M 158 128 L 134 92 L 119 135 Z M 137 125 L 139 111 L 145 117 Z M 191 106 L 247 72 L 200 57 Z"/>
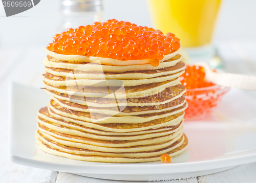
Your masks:
<path fill-rule="evenodd" d="M 155 28 L 174 33 L 191 56 L 212 54 L 212 33 L 221 0 L 149 0 Z"/>

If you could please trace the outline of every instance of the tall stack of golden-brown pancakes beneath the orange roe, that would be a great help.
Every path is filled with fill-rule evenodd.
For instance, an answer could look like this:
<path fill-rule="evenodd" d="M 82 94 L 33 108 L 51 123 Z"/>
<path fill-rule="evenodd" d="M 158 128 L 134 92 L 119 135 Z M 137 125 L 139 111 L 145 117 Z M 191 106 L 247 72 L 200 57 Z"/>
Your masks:
<path fill-rule="evenodd" d="M 60 60 L 49 54 L 42 80 L 51 96 L 38 111 L 40 149 L 80 161 L 136 163 L 187 147 L 181 55 L 154 67 Z"/>

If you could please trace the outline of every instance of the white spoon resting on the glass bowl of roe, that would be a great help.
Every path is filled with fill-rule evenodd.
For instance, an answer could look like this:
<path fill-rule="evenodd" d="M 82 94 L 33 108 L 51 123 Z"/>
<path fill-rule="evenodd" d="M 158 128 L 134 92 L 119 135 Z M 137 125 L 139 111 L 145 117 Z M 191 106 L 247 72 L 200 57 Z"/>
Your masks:
<path fill-rule="evenodd" d="M 211 71 L 207 63 L 198 62 L 196 65 L 204 67 L 205 79 L 214 84 L 239 89 L 256 90 L 256 76 L 231 73 L 215 73 Z"/>

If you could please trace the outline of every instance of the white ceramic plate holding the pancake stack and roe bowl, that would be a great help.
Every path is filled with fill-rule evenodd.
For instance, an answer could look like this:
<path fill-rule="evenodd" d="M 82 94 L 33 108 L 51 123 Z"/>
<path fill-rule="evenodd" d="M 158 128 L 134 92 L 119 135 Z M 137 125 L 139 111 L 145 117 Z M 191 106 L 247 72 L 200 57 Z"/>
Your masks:
<path fill-rule="evenodd" d="M 239 90 L 224 96 L 212 117 L 185 122 L 189 147 L 171 164 L 82 162 L 41 151 L 34 138 L 36 114 L 49 99 L 43 89 L 12 84 L 10 157 L 14 163 L 95 178 L 157 180 L 202 176 L 256 162 L 256 105 Z"/>

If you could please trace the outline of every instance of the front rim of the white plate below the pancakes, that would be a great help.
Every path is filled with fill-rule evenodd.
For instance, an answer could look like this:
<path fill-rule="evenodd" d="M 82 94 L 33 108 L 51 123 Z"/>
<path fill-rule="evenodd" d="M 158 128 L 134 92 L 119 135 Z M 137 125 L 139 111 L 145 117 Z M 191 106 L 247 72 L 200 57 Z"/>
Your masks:
<path fill-rule="evenodd" d="M 249 152 L 252 153 L 249 153 Z M 241 153 L 241 152 L 240 152 Z M 245 155 L 233 156 L 228 158 L 211 159 L 207 161 L 197 162 L 182 162 L 170 164 L 113 164 L 113 163 L 98 163 L 98 164 L 73 164 L 73 163 L 56 163 L 40 161 L 37 159 L 29 159 L 25 157 L 16 156 L 10 153 L 10 158 L 13 163 L 32 166 L 35 168 L 44 168 L 54 171 L 70 172 L 70 173 L 86 173 L 90 174 L 125 174 L 125 175 L 140 175 L 140 174 L 164 174 L 164 173 L 183 173 L 193 171 L 212 170 L 230 166 L 239 166 L 247 163 L 256 162 L 256 149 L 245 150 L 242 153 Z M 249 153 L 249 154 L 247 154 Z M 235 153 L 236 154 L 236 153 Z M 51 154 L 52 155 L 52 154 Z M 230 155 L 230 154 L 227 154 Z M 231 154 L 233 155 L 233 154 Z M 54 155 L 53 155 L 54 156 Z M 226 156 L 226 155 L 224 155 Z M 218 156 L 217 156 L 218 157 Z M 211 166 L 209 166 L 211 165 Z M 223 166 L 224 165 L 224 166 Z M 129 171 L 123 171 L 129 168 Z M 101 172 L 102 170 L 108 170 Z M 97 172 L 95 172 L 97 170 Z M 138 172 L 138 171 L 142 172 Z M 151 170 L 151 171 L 150 171 Z M 172 170 L 170 172 L 170 170 Z"/>

